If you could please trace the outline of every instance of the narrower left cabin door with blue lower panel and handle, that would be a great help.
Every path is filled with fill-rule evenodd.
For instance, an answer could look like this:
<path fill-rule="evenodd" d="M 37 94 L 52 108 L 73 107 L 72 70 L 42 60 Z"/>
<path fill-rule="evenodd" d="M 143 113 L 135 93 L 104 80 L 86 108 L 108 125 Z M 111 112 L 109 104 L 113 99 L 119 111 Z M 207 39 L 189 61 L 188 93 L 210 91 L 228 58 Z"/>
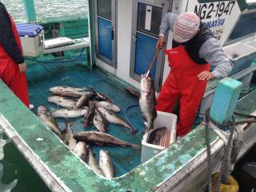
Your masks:
<path fill-rule="evenodd" d="M 97 58 L 116 68 L 116 0 L 94 1 Z"/>

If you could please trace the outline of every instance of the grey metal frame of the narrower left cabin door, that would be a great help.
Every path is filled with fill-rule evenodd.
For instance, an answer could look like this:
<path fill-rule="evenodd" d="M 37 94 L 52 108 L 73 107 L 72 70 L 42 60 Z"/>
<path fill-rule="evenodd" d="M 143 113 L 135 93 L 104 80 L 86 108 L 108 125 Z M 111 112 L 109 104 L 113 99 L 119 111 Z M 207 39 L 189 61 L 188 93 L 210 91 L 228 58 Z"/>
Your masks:
<path fill-rule="evenodd" d="M 114 40 L 112 41 L 112 60 L 109 58 L 104 57 L 103 55 L 98 53 L 98 17 L 102 18 L 101 16 L 98 16 L 98 4 L 97 1 L 94 1 L 94 33 L 95 33 L 95 49 L 96 49 L 96 56 L 102 62 L 105 62 L 106 64 L 117 68 L 117 34 L 118 34 L 118 19 L 117 19 L 117 8 L 118 8 L 118 2 L 117 0 L 111 0 L 112 5 L 111 5 L 111 10 L 112 10 L 112 28 L 114 31 Z M 107 21 L 110 21 L 107 18 L 104 18 Z"/>

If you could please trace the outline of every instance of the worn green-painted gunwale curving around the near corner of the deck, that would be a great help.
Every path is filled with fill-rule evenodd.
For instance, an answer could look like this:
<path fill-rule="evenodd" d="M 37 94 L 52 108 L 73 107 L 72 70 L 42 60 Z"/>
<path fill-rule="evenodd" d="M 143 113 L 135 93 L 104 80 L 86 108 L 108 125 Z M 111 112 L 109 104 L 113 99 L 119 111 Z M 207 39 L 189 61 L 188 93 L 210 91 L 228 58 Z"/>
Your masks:
<path fill-rule="evenodd" d="M 92 73 L 94 74 L 95 72 Z M 45 79 L 46 77 L 41 78 Z M 105 81 L 107 80 L 105 79 Z M 191 132 L 188 138 L 170 146 L 165 153 L 158 155 L 151 161 L 141 164 L 121 178 L 106 180 L 94 174 L 82 161 L 76 158 L 60 142 L 57 136 L 49 129 L 46 129 L 46 126 L 19 102 L 18 98 L 11 93 L 4 83 L 0 82 L 0 88 L 2 90 L 0 95 L 1 127 L 6 132 L 11 132 L 11 134 L 9 132 L 8 136 L 14 140 L 15 146 L 26 158 L 33 159 L 34 157 L 33 160 L 29 160 L 34 169 L 37 170 L 40 166 L 46 169 L 44 172 L 37 170 L 41 177 L 50 173 L 58 183 L 61 183 L 61 186 L 66 191 L 153 190 L 206 149 L 202 141 L 204 130 L 203 127 L 199 127 Z M 37 105 L 37 103 L 35 104 Z M 19 115 L 14 115 L 14 111 Z M 217 142 L 217 134 L 214 132 L 210 132 L 210 134 L 211 142 Z M 126 140 L 129 138 L 127 135 L 129 134 L 126 132 Z M 119 137 L 122 137 L 122 135 L 119 135 Z M 36 140 L 37 138 L 42 138 L 43 140 Z M 195 145 L 191 146 L 191 142 L 195 143 Z M 22 148 L 24 144 L 27 150 Z M 180 147 L 181 145 L 182 147 Z M 122 155 L 124 154 L 123 152 L 124 150 L 119 150 Z M 128 150 L 127 152 L 129 153 Z M 128 162 L 128 157 L 125 159 Z M 56 186 L 56 183 L 52 180 L 50 182 L 47 182 L 46 178 L 43 178 L 43 180 L 51 190 Z"/>

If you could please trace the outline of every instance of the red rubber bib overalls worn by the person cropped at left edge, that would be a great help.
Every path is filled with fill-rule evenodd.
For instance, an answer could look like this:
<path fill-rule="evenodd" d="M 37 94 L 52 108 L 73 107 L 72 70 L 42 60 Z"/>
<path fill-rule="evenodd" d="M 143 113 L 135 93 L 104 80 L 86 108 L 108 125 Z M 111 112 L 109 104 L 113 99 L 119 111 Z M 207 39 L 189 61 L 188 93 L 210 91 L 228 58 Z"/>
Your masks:
<path fill-rule="evenodd" d="M 18 48 L 22 51 L 22 44 L 14 20 L 10 16 L 11 26 Z M 0 45 L 0 78 L 16 94 L 16 96 L 29 106 L 29 96 L 26 84 L 26 74 L 20 73 L 17 63 L 6 53 Z"/>

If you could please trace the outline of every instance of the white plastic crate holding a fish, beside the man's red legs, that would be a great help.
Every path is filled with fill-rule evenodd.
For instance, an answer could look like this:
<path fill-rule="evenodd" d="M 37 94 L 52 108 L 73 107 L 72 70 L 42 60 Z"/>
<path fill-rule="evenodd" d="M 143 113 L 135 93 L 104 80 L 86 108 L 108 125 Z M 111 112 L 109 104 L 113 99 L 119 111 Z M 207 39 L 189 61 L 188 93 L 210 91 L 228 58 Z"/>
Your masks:
<path fill-rule="evenodd" d="M 176 124 L 177 116 L 175 114 L 158 111 L 158 118 L 156 118 L 154 121 L 154 128 L 158 129 L 161 127 L 166 127 L 167 129 L 169 129 L 171 144 L 176 140 Z M 155 146 L 153 144 L 148 143 L 148 139 L 152 131 L 153 130 L 146 132 L 142 138 L 141 162 L 146 162 L 146 160 L 148 160 L 149 158 L 152 158 L 154 155 L 166 149 L 166 147 L 164 146 Z"/>

